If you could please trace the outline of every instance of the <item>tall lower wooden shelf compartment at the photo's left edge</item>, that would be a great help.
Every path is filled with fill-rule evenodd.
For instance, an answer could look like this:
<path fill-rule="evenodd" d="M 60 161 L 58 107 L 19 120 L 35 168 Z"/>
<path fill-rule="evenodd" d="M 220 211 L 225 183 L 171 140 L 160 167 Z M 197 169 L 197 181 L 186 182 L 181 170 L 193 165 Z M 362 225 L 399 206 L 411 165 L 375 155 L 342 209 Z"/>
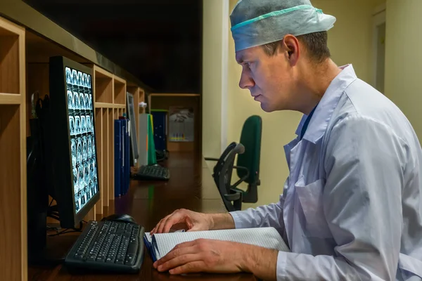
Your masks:
<path fill-rule="evenodd" d="M 26 280 L 26 151 L 20 105 L 0 105 L 1 280 Z"/>

